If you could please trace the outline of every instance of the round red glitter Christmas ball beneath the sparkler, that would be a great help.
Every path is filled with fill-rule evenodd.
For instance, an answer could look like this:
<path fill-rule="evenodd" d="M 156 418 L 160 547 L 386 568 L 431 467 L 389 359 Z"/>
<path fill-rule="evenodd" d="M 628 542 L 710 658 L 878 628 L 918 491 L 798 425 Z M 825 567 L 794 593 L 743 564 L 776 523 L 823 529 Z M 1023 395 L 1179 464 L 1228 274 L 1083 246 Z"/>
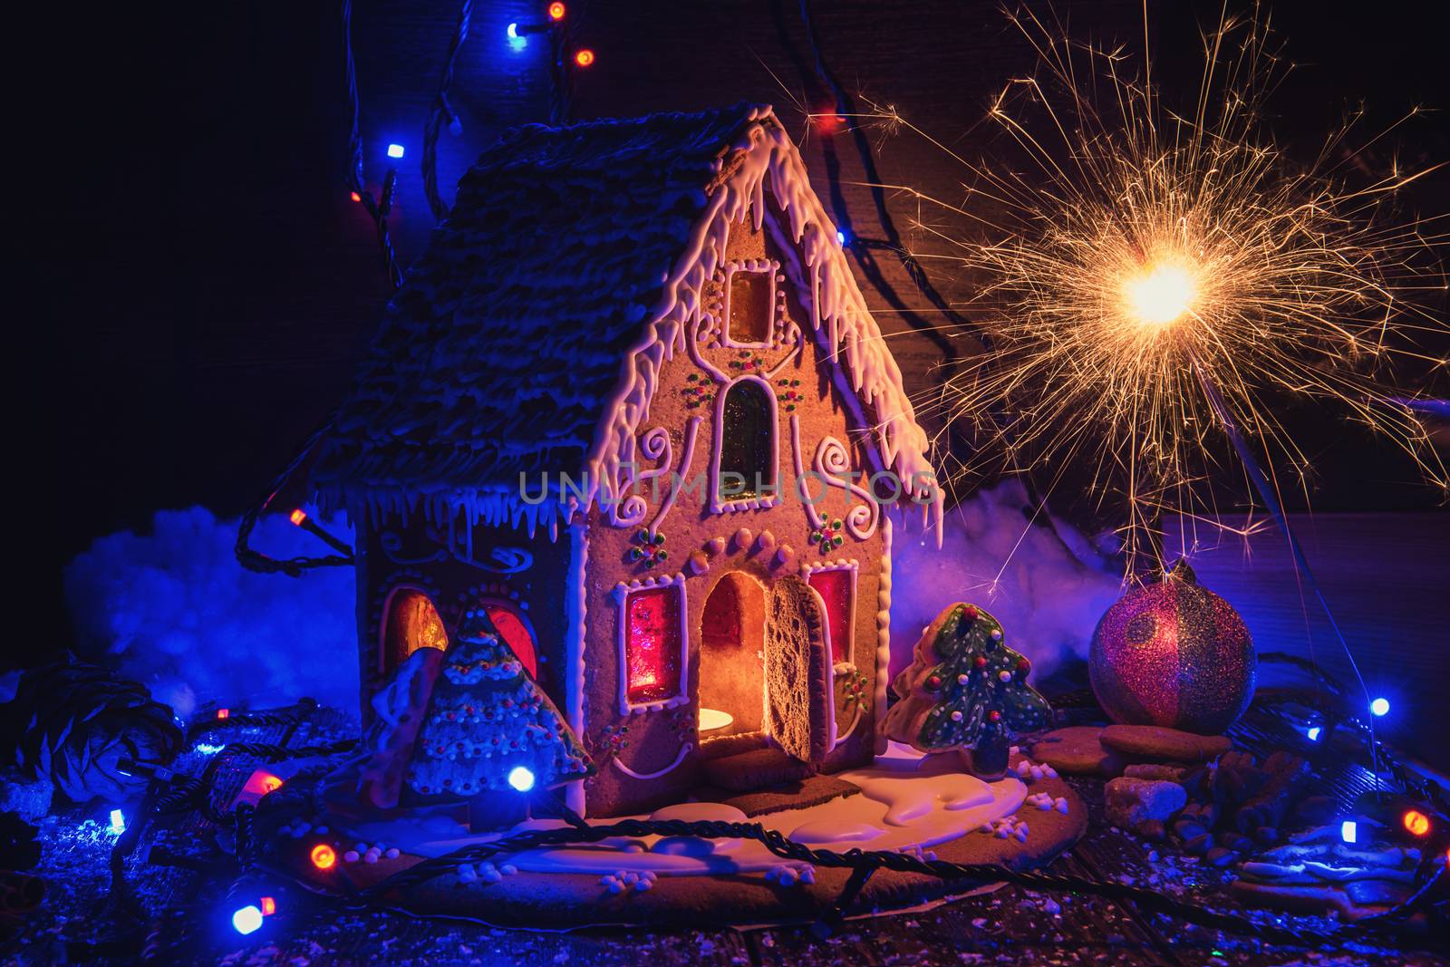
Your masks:
<path fill-rule="evenodd" d="M 1182 560 L 1109 607 L 1088 654 L 1093 694 L 1115 722 L 1201 735 L 1244 713 L 1256 664 L 1244 619 Z"/>

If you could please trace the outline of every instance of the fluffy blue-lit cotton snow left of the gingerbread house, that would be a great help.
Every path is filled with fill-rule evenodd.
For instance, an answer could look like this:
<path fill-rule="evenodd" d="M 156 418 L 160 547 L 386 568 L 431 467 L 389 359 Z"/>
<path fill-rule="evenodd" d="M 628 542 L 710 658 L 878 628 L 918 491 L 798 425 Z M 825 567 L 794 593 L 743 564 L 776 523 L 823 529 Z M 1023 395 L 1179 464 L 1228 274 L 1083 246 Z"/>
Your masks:
<path fill-rule="evenodd" d="M 345 523 L 329 531 L 349 541 Z M 357 709 L 351 567 L 293 578 L 242 568 L 236 522 L 161 510 L 149 532 L 100 538 L 65 568 L 75 651 L 144 681 L 183 718 L 197 702 L 254 707 L 309 696 Z M 331 549 L 271 515 L 252 535 L 271 557 Z"/>

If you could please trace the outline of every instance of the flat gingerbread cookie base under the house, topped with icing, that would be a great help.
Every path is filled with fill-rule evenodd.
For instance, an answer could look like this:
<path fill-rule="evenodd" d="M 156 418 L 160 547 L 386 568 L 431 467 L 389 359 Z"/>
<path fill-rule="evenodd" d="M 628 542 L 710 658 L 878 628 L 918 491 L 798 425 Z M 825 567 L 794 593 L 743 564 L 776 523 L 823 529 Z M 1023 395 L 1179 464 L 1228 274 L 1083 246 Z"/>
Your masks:
<path fill-rule="evenodd" d="M 1014 758 L 1014 765 L 1018 761 Z M 754 819 L 734 806 L 705 802 L 667 806 L 650 818 L 760 822 L 819 851 L 883 850 L 1018 870 L 1047 864 L 1088 825 L 1086 808 L 1051 770 L 1037 770 L 1034 777 L 1024 767 L 985 783 L 944 771 L 937 763 L 924 764 L 914 750 L 893 744 L 870 768 L 838 779 L 861 792 Z M 490 839 L 465 834 L 450 838 L 436 818 L 425 823 L 338 825 L 335 818 L 306 816 L 297 809 L 306 802 L 281 800 L 280 809 L 262 810 L 258 829 L 268 844 L 264 863 L 326 892 L 368 889 L 425 857 Z M 525 828 L 557 825 L 534 821 Z M 310 863 L 312 851 L 322 844 L 336 854 L 336 863 L 326 870 Z M 850 873 L 783 860 L 751 839 L 641 837 L 497 855 L 378 899 L 413 912 L 467 916 L 497 926 L 744 925 L 829 913 Z M 906 909 L 982 886 L 879 870 L 845 913 Z"/>

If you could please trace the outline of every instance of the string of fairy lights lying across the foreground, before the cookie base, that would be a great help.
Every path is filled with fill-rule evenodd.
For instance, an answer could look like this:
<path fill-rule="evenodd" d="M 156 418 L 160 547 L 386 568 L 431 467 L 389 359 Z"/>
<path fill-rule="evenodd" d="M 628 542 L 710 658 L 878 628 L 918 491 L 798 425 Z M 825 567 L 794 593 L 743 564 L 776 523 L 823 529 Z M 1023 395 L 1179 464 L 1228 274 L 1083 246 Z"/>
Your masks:
<path fill-rule="evenodd" d="M 1272 713 L 1286 706 L 1317 706 L 1322 700 L 1325 690 L 1331 694 L 1341 694 L 1343 686 L 1312 663 L 1292 655 L 1270 652 L 1264 655 L 1269 661 L 1283 661 L 1305 671 L 1314 678 L 1311 689 L 1282 689 L 1269 693 L 1263 692 L 1256 699 L 1256 707 Z M 1357 722 L 1357 716 L 1341 709 L 1325 712 L 1322 726 L 1333 731 L 1335 723 L 1347 723 L 1366 742 L 1373 741 L 1367 728 Z M 113 815 L 113 826 L 119 834 L 110 857 L 112 870 L 112 899 L 117 906 L 133 905 L 125 877 L 125 863 L 141 842 L 144 829 L 158 818 L 199 812 L 206 821 L 226 829 L 231 835 L 232 857 L 236 864 L 235 880 L 226 892 L 231 909 L 229 924 L 238 934 L 249 935 L 261 929 L 268 918 L 281 910 L 278 890 L 280 880 L 290 880 L 293 874 L 281 871 L 276 864 L 262 863 L 262 844 L 257 839 L 255 816 L 257 806 L 252 802 L 238 802 L 231 809 L 222 808 L 216 802 L 218 777 L 223 763 L 233 757 L 246 757 L 254 761 L 277 763 L 281 760 L 320 760 L 323 764 L 315 767 L 313 773 L 332 768 L 338 755 L 352 752 L 358 739 L 341 739 L 289 748 L 287 738 L 293 729 L 316 705 L 303 700 L 287 709 L 273 709 L 261 712 L 231 713 L 218 709 L 212 718 L 204 718 L 187 731 L 188 739 L 196 742 L 196 750 L 210 755 L 202 773 L 196 777 L 181 776 L 165 768 L 142 763 L 125 763 L 122 767 L 133 774 L 144 774 L 151 779 L 146 794 L 138 815 L 130 823 L 125 823 Z M 1298 732 L 1293 719 L 1282 719 Z M 226 741 L 222 745 L 209 742 L 220 738 L 219 734 L 242 728 L 274 726 L 286 723 L 284 735 L 277 742 Z M 1308 739 L 1314 744 L 1327 739 L 1318 735 L 1320 728 L 1309 729 Z M 204 742 L 200 739 L 206 739 Z M 1343 747 L 1341 747 L 1343 748 Z M 1417 913 L 1431 913 L 1443 910 L 1447 866 L 1450 866 L 1450 815 L 1447 815 L 1447 794 L 1438 783 L 1414 773 L 1414 770 L 1398 763 L 1386 750 L 1379 750 L 1380 767 L 1388 765 L 1392 776 L 1399 781 L 1404 797 L 1395 806 L 1398 813 L 1380 816 L 1386 828 L 1402 829 L 1399 835 L 1421 847 L 1421 863 L 1415 871 L 1414 892 L 1396 906 L 1362 918 L 1354 922 L 1321 931 L 1312 928 L 1298 928 L 1283 918 L 1250 918 L 1247 915 L 1215 910 L 1206 908 L 1196 899 L 1179 899 L 1156 887 L 1134 886 L 1118 880 L 1072 876 L 1048 871 L 1019 871 L 996 864 L 964 864 L 932 858 L 929 855 L 915 855 L 911 852 L 866 851 L 866 850 L 824 850 L 812 848 L 795 842 L 777 831 L 751 822 L 725 821 L 641 821 L 624 819 L 613 822 L 589 822 L 577 813 L 568 810 L 551 790 L 536 789 L 532 783 L 513 784 L 521 794 L 531 796 L 534 806 L 541 815 L 554 815 L 566 821 L 566 826 L 552 829 L 534 829 L 528 832 L 508 835 L 486 844 L 474 844 L 455 850 L 445 855 L 422 860 L 409 866 L 365 889 L 347 886 L 347 880 L 335 880 L 328 874 L 336 867 L 338 847 L 334 847 L 325 837 L 316 844 L 302 844 L 307 852 L 315 871 L 328 879 L 329 886 L 322 886 L 316 879 L 299 884 L 304 890 L 302 895 L 320 895 L 328 902 L 354 910 L 364 909 L 399 909 L 397 896 L 400 890 L 418 886 L 441 876 L 455 874 L 463 864 L 478 864 L 494 857 L 523 852 L 526 850 L 547 847 L 570 847 L 600 842 L 618 837 L 692 837 L 702 839 L 751 839 L 760 842 L 782 860 L 808 863 L 822 868 L 850 870 L 850 877 L 842 886 L 837 900 L 822 915 L 818 928 L 824 932 L 837 929 L 860 896 L 863 887 L 871 876 L 882 870 L 898 873 L 916 873 L 948 883 L 1011 883 L 1022 889 L 1044 892 L 1072 892 L 1099 896 L 1115 903 L 1128 903 L 1151 915 L 1166 915 L 1199 926 L 1256 937 L 1275 944 L 1296 947 L 1341 945 L 1347 942 L 1364 942 L 1373 938 L 1395 939 L 1399 944 L 1414 945 L 1418 934 L 1405 934 L 1406 922 Z M 261 787 L 273 792 L 283 787 L 283 780 L 258 770 L 254 779 L 262 776 Z M 264 794 L 265 794 L 264 792 Z M 1409 799 L 1414 797 L 1414 799 Z M 1366 816 L 1346 819 L 1343 825 L 1343 839 L 1346 844 L 1356 844 L 1359 825 Z M 119 826 L 117 826 L 119 822 Z M 289 899 L 287 903 L 293 903 Z M 294 910 L 293 910 L 294 912 Z M 410 910 L 405 910 L 410 912 Z M 413 913 L 428 918 L 426 913 Z M 451 916 L 450 919 L 460 919 Z M 463 918 L 468 919 L 468 918 Z"/>

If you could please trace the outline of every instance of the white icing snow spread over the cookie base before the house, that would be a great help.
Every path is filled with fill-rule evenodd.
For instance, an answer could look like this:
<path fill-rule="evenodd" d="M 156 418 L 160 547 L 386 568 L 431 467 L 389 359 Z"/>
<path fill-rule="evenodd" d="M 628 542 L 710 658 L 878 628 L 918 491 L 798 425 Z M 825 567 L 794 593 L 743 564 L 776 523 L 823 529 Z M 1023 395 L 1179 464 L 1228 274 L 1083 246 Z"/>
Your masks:
<path fill-rule="evenodd" d="M 916 852 L 974 829 L 1002 823 L 1027 799 L 1027 787 L 1015 776 L 986 783 L 974 776 L 948 771 L 944 757 L 924 758 L 896 742 L 870 768 L 841 773 L 840 777 L 860 786 L 861 793 L 754 819 L 747 819 L 740 809 L 724 803 L 679 803 L 648 818 L 758 822 L 812 847 L 829 848 L 829 844 L 840 842 L 861 850 Z M 513 832 L 554 829 L 561 825 L 564 823 L 554 819 L 531 819 L 510 831 L 470 835 L 439 812 L 425 821 L 412 818 L 368 823 L 352 832 L 396 844 L 416 855 L 436 857 Z M 1025 823 L 1021 829 L 1025 835 Z M 621 837 L 592 845 L 529 850 L 509 857 L 509 863 L 534 873 L 584 873 L 612 876 L 616 881 L 622 881 L 626 873 L 715 876 L 764 873 L 783 866 L 780 857 L 753 839 L 697 841 L 683 837 Z"/>

